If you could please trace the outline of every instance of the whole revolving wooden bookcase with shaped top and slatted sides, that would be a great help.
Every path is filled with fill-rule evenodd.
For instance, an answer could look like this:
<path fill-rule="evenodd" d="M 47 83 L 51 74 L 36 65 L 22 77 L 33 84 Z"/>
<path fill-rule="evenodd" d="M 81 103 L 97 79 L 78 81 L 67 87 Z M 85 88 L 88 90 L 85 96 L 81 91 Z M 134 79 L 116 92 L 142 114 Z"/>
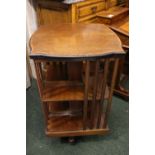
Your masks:
<path fill-rule="evenodd" d="M 103 24 L 52 24 L 40 27 L 30 46 L 45 133 L 106 134 L 118 63 L 124 55 L 117 35 Z"/>

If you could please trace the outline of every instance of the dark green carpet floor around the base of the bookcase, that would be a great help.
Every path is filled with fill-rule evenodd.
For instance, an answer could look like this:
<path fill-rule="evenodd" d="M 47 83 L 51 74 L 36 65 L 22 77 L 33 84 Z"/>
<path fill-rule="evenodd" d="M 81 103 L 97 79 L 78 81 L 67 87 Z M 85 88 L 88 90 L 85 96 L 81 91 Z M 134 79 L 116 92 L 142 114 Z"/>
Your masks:
<path fill-rule="evenodd" d="M 62 143 L 44 133 L 44 120 L 36 81 L 26 91 L 27 155 L 128 155 L 129 103 L 113 97 L 109 118 L 110 133 L 106 136 L 85 136 L 78 143 Z"/>

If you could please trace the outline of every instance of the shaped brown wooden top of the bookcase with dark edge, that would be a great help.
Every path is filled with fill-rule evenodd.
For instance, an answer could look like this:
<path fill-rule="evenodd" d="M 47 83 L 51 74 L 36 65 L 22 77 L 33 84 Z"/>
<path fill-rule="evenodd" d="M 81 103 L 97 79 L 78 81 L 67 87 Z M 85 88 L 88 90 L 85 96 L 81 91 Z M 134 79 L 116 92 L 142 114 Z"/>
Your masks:
<path fill-rule="evenodd" d="M 41 26 L 31 37 L 31 58 L 77 59 L 124 54 L 117 35 L 103 24 Z"/>

